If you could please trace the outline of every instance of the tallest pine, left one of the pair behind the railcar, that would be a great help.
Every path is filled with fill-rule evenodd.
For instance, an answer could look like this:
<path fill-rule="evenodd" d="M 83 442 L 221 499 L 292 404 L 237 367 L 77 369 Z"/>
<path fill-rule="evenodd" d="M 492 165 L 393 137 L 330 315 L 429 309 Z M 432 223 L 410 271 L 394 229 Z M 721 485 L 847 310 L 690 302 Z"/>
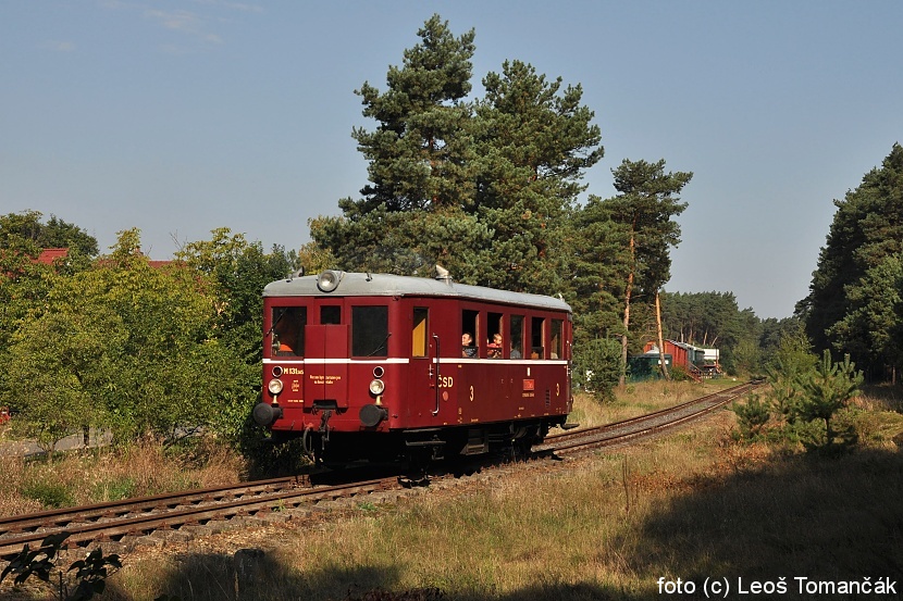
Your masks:
<path fill-rule="evenodd" d="M 375 130 L 352 137 L 369 161 L 362 198 L 338 201 L 343 214 L 310 222 L 311 237 L 346 270 L 426 275 L 436 262 L 453 273 L 475 262 L 491 233 L 468 215 L 473 203 L 471 90 L 474 32 L 455 37 L 433 15 L 420 43 L 391 66 L 387 89 L 356 91 Z"/>

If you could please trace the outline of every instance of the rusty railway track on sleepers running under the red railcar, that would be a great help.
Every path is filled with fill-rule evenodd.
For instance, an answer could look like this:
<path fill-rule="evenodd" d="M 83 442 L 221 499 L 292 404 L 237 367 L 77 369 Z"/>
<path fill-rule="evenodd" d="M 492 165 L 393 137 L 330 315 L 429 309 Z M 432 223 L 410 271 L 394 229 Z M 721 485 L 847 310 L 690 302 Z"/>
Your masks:
<path fill-rule="evenodd" d="M 753 388 L 754 385 L 741 385 L 639 417 L 549 436 L 534 450 L 541 455 L 560 455 L 636 442 L 697 420 Z M 332 486 L 314 485 L 307 476 L 292 476 L 0 517 L 0 560 L 10 561 L 25 544 L 32 549 L 39 547 L 51 534 L 67 534 L 70 547 L 89 547 L 235 518 L 261 518 L 323 501 L 399 488 L 396 475 Z"/>

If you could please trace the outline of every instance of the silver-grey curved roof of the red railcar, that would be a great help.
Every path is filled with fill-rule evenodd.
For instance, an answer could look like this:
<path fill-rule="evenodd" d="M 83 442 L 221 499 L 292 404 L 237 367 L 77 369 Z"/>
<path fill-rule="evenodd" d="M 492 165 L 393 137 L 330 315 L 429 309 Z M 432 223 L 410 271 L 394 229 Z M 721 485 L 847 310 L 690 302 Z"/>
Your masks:
<path fill-rule="evenodd" d="M 553 311 L 571 308 L 564 300 L 544 295 L 527 295 L 496 290 L 483 286 L 455 284 L 450 279 L 431 279 L 389 274 L 343 273 L 338 286 L 332 292 L 317 287 L 318 275 L 285 278 L 271 281 L 263 288 L 264 297 L 436 297 L 458 298 L 482 302 L 519 304 Z"/>

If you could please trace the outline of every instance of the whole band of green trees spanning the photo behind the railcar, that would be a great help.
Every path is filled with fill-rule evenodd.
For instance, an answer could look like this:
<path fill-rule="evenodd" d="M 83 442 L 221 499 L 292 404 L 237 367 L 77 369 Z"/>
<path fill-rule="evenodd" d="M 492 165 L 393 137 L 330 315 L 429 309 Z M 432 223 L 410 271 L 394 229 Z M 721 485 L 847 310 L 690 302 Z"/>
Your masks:
<path fill-rule="evenodd" d="M 627 356 L 651 340 L 721 351 L 728 373 L 765 371 L 775 351 L 850 354 L 893 378 L 903 353 L 903 149 L 838 211 L 794 316 L 760 320 L 729 291 L 669 292 L 670 250 L 692 173 L 664 159 L 613 170 L 615 193 L 581 179 L 604 154 L 580 85 L 506 61 L 475 97 L 474 32 L 455 36 L 438 15 L 391 66 L 385 89 L 360 96 L 372 130 L 352 138 L 368 161 L 358 199 L 310 221 L 299 250 L 227 228 L 152 265 L 137 229 L 99 253 L 81 226 L 37 211 L 0 216 L 0 405 L 23 434 L 51 445 L 100 427 L 119 440 L 197 428 L 248 443 L 259 391 L 263 286 L 304 265 L 429 275 L 560 295 L 574 313 L 574 381 L 605 395 Z M 44 248 L 67 248 L 52 265 Z M 670 374 L 667 374 L 670 375 Z"/>

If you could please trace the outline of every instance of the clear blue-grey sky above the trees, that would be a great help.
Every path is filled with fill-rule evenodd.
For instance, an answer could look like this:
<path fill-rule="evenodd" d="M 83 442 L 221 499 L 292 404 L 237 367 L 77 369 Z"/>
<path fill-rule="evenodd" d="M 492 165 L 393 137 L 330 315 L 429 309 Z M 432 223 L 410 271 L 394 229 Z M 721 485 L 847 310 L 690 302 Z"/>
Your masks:
<path fill-rule="evenodd" d="M 297 248 L 358 196 L 354 90 L 433 13 L 477 32 L 474 93 L 506 59 L 583 86 L 609 197 L 623 159 L 692 171 L 669 291 L 760 317 L 805 297 L 834 213 L 903 142 L 903 2 L 0 1 L 0 213 L 166 259 L 217 227 Z"/>

